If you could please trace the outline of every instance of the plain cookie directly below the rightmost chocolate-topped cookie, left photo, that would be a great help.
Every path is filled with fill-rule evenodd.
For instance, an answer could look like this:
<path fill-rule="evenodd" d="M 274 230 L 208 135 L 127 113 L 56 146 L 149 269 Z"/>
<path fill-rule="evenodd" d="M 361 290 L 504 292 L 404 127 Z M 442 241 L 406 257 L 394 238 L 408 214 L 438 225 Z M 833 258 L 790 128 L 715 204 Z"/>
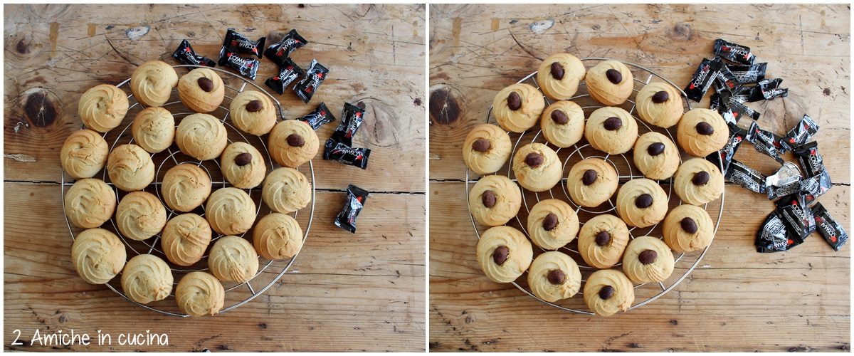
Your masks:
<path fill-rule="evenodd" d="M 293 213 L 312 201 L 312 184 L 294 168 L 279 167 L 264 179 L 261 198 L 276 213 Z"/>

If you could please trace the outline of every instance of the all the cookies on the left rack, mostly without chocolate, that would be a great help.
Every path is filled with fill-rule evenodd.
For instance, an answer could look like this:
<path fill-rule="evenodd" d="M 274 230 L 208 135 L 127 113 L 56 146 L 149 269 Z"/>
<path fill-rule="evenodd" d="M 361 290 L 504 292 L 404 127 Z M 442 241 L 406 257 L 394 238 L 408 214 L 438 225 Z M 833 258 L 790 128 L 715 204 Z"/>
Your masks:
<path fill-rule="evenodd" d="M 220 281 L 245 283 L 259 273 L 259 255 L 284 260 L 301 249 L 303 233 L 288 214 L 312 199 L 311 183 L 296 168 L 317 155 L 318 137 L 306 122 L 277 123 L 278 106 L 266 93 L 241 91 L 231 100 L 228 125 L 254 136 L 269 133 L 269 152 L 281 165 L 272 169 L 252 144 L 231 142 L 225 118 L 213 116 L 225 105 L 225 84 L 216 71 L 199 67 L 178 79 L 167 63 L 148 61 L 134 71 L 130 87 L 143 108 L 130 124 L 130 143 L 111 151 L 104 138 L 132 108 L 128 94 L 115 85 L 97 85 L 79 100 L 85 128 L 74 131 L 61 149 L 64 172 L 77 179 L 64 197 L 65 213 L 71 224 L 85 229 L 73 243 L 74 269 L 95 284 L 121 274 L 121 288 L 137 303 L 174 294 L 185 314 L 216 314 L 225 298 Z M 180 113 L 185 116 L 179 120 L 163 108 L 176 87 L 180 102 L 192 110 Z M 180 153 L 170 149 L 173 143 Z M 178 163 L 176 157 L 185 159 Z M 153 158 L 163 161 L 161 167 L 171 166 L 161 182 L 155 182 L 159 169 Z M 202 165 L 207 160 L 227 181 L 219 189 Z M 93 178 L 104 169 L 104 179 Z M 259 186 L 272 213 L 256 221 L 260 209 L 248 191 Z M 102 228 L 110 219 L 117 231 Z M 253 228 L 249 242 L 242 236 Z M 147 242 L 148 254 L 127 260 L 127 240 L 155 236 L 158 246 Z M 155 248 L 166 260 L 151 254 Z M 209 272 L 191 271 L 173 290 L 173 266 L 196 266 L 203 258 L 207 266 L 196 270 Z"/>

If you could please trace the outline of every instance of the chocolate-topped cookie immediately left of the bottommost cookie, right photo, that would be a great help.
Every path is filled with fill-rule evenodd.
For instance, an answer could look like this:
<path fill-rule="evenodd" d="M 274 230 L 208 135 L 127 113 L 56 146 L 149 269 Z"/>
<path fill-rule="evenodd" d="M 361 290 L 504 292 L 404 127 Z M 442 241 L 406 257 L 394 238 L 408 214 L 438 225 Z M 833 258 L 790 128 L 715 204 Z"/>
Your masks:
<path fill-rule="evenodd" d="M 531 262 L 528 285 L 537 298 L 548 302 L 560 301 L 582 289 L 582 271 L 570 256 L 548 251 Z"/>

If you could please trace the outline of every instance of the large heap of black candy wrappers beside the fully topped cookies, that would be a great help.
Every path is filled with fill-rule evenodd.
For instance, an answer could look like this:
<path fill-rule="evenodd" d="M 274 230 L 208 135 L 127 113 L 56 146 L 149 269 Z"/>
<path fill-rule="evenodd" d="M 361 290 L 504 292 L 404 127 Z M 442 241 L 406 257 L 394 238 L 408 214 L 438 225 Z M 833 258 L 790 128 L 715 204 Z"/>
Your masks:
<path fill-rule="evenodd" d="M 729 140 L 719 153 L 706 159 L 721 166 L 730 183 L 767 194 L 769 200 L 775 201 L 775 210 L 757 233 L 757 251 L 787 251 L 804 242 L 816 230 L 834 250 L 839 251 L 848 234 L 821 203 L 813 204 L 816 197 L 832 187 L 822 155 L 818 154 L 818 143 L 810 142 L 819 128 L 815 120 L 804 114 L 798 125 L 784 137 L 763 130 L 756 121 L 761 114 L 748 108 L 744 102 L 787 96 L 788 90 L 780 87 L 782 79 L 765 79 L 768 63 L 755 64 L 756 56 L 748 47 L 717 39 L 714 53 L 714 59 L 704 59 L 700 63 L 685 93 L 691 100 L 699 102 L 712 85 L 715 87 L 710 108 L 717 109 L 727 121 Z M 743 116 L 753 120 L 747 129 L 737 125 Z M 781 168 L 766 177 L 734 160 L 733 156 L 743 141 L 752 143 L 757 151 L 775 159 Z M 781 158 L 789 151 L 797 157 L 798 165 Z"/>

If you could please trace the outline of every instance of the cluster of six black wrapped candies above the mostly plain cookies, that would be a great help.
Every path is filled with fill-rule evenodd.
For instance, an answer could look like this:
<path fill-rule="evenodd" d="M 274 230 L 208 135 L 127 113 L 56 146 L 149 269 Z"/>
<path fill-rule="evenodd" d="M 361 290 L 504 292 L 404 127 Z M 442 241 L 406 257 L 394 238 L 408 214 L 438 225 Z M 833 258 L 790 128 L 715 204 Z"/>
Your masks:
<path fill-rule="evenodd" d="M 290 30 L 278 44 L 272 44 L 266 50 L 264 50 L 265 43 L 266 37 L 253 41 L 230 28 L 225 32 L 225 41 L 223 41 L 222 49 L 219 50 L 219 62 L 202 55 L 196 55 L 196 51 L 186 39 L 178 45 L 178 50 L 173 53 L 173 58 L 181 63 L 196 66 L 216 67 L 219 64 L 219 66 L 231 67 L 237 70 L 240 75 L 254 80 L 260 66 L 259 59 L 266 56 L 278 65 L 279 73 L 273 78 L 266 79 L 265 84 L 282 95 L 288 85 L 303 77 L 294 85 L 293 90 L 303 102 L 310 102 L 314 92 L 329 74 L 329 69 L 317 60 L 312 60 L 306 71 L 297 66 L 295 61 L 290 58 L 291 52 L 305 46 L 308 41 L 302 38 L 296 30 Z M 249 56 L 242 57 L 241 54 L 249 54 Z M 258 56 L 258 59 L 253 58 L 253 55 Z"/>

